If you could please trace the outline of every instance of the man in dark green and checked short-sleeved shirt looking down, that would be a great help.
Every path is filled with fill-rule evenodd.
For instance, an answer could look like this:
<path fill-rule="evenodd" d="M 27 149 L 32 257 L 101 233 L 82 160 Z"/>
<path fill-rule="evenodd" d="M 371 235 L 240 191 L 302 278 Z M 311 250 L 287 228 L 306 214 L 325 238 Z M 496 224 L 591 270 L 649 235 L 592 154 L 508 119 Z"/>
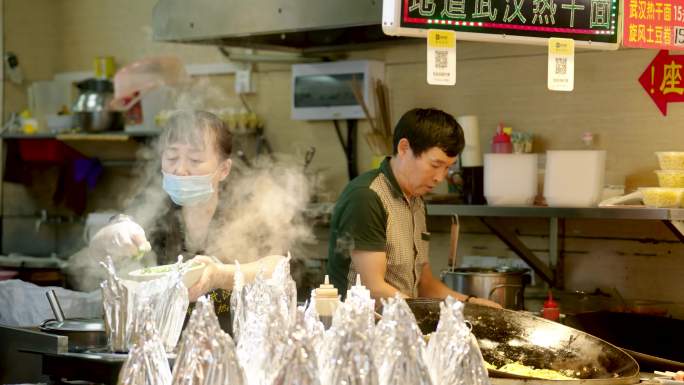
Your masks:
<path fill-rule="evenodd" d="M 444 180 L 465 146 L 449 114 L 414 109 L 394 129 L 393 155 L 354 178 L 333 211 L 328 275 L 344 295 L 356 274 L 373 298 L 445 298 L 498 304 L 449 289 L 432 275 L 422 196 Z"/>

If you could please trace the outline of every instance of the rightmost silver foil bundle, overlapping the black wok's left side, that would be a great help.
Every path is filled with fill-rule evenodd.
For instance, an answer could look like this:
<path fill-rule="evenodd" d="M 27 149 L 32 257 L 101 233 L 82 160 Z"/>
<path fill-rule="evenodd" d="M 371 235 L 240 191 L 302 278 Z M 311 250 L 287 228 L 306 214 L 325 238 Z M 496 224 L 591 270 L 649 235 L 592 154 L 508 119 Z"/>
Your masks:
<path fill-rule="evenodd" d="M 463 317 L 463 303 L 451 297 L 440 304 L 437 330 L 425 356 L 434 385 L 489 385 L 482 353 Z"/>

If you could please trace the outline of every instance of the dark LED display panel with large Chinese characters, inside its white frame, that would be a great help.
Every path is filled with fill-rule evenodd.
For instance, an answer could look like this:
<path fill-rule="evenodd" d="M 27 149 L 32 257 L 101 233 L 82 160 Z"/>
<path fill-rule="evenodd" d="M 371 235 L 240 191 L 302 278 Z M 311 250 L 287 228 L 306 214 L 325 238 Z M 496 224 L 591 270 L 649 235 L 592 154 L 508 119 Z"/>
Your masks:
<path fill-rule="evenodd" d="M 402 0 L 401 26 L 617 43 L 619 5 L 619 0 Z"/>

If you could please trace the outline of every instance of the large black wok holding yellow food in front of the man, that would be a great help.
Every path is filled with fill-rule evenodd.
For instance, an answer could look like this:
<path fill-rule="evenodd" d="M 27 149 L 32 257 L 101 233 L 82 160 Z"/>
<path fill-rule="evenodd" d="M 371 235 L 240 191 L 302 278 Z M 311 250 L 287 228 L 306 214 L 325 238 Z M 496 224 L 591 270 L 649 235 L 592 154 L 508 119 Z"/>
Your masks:
<path fill-rule="evenodd" d="M 432 332 L 439 320 L 437 300 L 407 301 L 423 333 Z M 538 369 L 572 371 L 577 382 L 633 384 L 639 365 L 627 353 L 579 330 L 505 309 L 466 304 L 464 316 L 472 326 L 484 359 L 500 367 L 519 362 Z M 499 371 L 493 375 L 508 377 Z M 572 383 L 568 380 L 564 383 Z"/>

